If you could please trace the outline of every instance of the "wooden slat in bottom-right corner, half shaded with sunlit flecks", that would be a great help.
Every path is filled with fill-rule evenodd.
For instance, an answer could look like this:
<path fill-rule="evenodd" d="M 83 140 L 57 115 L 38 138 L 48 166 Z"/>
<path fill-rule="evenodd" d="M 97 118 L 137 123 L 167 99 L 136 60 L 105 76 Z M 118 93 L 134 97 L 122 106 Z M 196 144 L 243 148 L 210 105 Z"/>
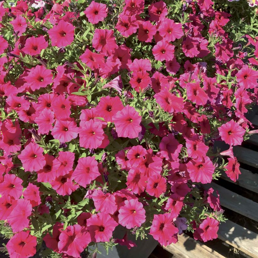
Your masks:
<path fill-rule="evenodd" d="M 258 235 L 229 220 L 221 223 L 218 238 L 253 258 L 258 258 Z"/>

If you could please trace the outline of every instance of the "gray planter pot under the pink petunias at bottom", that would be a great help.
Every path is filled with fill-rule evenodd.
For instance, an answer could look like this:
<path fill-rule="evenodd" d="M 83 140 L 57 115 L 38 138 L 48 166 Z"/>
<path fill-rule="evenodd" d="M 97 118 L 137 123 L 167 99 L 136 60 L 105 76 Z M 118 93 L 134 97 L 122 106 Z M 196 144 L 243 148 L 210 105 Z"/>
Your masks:
<path fill-rule="evenodd" d="M 125 228 L 118 226 L 113 233 L 113 237 L 122 239 L 124 234 Z M 101 254 L 98 254 L 97 258 L 148 258 L 157 246 L 158 242 L 151 235 L 148 235 L 147 237 L 148 239 L 141 240 L 141 238 L 137 238 L 137 240 L 135 240 L 135 236 L 128 233 L 128 240 L 136 243 L 137 247 L 132 247 L 129 250 L 126 246 L 118 244 L 113 247 L 112 251 L 109 249 L 108 255 L 103 246 L 99 243 L 98 251 L 100 251 Z M 90 248 L 95 249 L 96 245 L 93 245 Z"/>

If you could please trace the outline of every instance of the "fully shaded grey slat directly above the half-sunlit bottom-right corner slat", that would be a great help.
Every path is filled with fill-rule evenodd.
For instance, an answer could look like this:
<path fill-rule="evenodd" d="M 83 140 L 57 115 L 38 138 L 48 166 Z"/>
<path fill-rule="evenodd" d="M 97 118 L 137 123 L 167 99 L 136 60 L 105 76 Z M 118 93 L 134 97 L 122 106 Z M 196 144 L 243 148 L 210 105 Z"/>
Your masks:
<path fill-rule="evenodd" d="M 205 186 L 205 188 L 207 187 Z M 233 193 L 214 182 L 210 183 L 210 187 L 219 191 L 222 206 L 258 222 L 258 203 Z"/>

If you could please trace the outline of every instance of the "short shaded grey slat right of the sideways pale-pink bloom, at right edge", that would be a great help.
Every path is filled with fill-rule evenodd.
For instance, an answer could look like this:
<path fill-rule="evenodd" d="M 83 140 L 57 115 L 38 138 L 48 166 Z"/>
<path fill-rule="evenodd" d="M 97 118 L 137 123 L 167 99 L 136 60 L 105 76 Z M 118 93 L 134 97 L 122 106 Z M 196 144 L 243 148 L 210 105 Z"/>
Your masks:
<path fill-rule="evenodd" d="M 233 153 L 239 162 L 258 168 L 258 152 L 244 148 L 242 146 L 234 146 Z"/>

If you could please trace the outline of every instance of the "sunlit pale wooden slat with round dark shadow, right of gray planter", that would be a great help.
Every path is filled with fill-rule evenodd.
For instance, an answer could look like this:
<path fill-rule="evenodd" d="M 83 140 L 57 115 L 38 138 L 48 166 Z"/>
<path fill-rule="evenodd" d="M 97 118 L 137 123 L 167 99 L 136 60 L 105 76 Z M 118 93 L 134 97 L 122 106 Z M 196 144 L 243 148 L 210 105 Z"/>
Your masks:
<path fill-rule="evenodd" d="M 215 250 L 206 246 L 200 241 L 194 240 L 186 234 L 178 235 L 178 242 L 176 244 L 170 244 L 163 247 L 168 252 L 172 253 L 176 257 L 182 258 L 199 258 L 199 257 L 213 257 L 224 258 L 225 256 L 219 254 Z"/>

